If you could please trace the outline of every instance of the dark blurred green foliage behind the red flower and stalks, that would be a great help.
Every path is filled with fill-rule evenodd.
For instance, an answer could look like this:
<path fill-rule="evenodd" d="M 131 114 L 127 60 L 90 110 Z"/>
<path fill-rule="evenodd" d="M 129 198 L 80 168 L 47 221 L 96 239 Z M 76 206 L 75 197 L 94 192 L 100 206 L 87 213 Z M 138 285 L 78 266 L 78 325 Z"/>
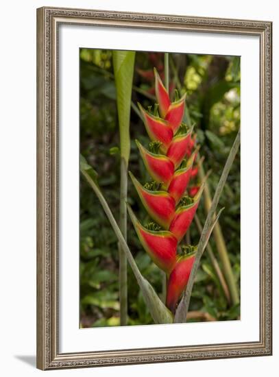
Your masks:
<path fill-rule="evenodd" d="M 145 182 L 146 169 L 134 143 L 147 145 L 149 138 L 136 108 L 153 104 L 154 66 L 163 78 L 164 53 L 136 52 L 130 122 L 131 154 L 129 168 Z M 240 58 L 170 53 L 169 90 L 186 92 L 186 120 L 195 123 L 197 143 L 201 145 L 204 170 L 212 170 L 208 186 L 215 192 L 223 165 L 240 125 Z M 99 174 L 99 185 L 112 212 L 119 217 L 119 130 L 112 51 L 80 49 L 80 151 Z M 199 183 L 195 178 L 192 185 Z M 138 219 L 147 222 L 146 212 L 138 202 L 129 182 L 128 202 Z M 220 199 L 225 207 L 219 223 L 232 265 L 232 273 L 240 287 L 240 153 L 237 154 Z M 204 198 L 197 210 L 204 224 Z M 199 229 L 192 224 L 187 241 L 199 241 Z M 223 270 L 215 238 L 210 239 L 211 252 Z M 151 263 L 128 221 L 128 245 L 138 268 L 156 292 L 162 292 L 160 269 Z M 80 180 L 80 326 L 119 325 L 119 254 L 117 238 L 92 190 Z M 213 259 L 204 252 L 193 287 L 189 321 L 238 319 L 239 304 L 228 299 L 220 284 Z M 128 324 L 153 323 L 134 275 L 128 267 Z"/>

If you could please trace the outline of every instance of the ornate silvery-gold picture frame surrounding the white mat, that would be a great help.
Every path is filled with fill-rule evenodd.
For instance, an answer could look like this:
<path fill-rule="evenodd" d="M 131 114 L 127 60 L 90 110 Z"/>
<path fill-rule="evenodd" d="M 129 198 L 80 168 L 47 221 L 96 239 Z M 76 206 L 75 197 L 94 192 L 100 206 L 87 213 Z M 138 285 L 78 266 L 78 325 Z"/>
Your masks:
<path fill-rule="evenodd" d="M 59 23 L 180 29 L 260 37 L 260 341 L 108 352 L 58 352 L 58 132 L 56 30 Z M 37 10 L 37 367 L 58 369 L 266 356 L 272 353 L 271 29 L 268 21 L 38 8 Z"/>

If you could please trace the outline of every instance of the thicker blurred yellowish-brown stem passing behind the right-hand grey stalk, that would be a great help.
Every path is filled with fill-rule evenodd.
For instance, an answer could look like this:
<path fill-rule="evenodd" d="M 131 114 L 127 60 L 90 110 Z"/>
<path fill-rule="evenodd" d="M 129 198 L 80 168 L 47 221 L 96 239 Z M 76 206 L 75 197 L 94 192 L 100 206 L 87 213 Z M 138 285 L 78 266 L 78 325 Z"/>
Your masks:
<path fill-rule="evenodd" d="M 200 160 L 198 156 L 198 160 Z M 204 180 L 204 167 L 202 164 L 199 165 L 199 179 Z M 206 182 L 204 186 L 204 204 L 206 206 L 206 212 L 210 211 L 212 206 L 212 199 L 210 195 L 210 189 L 208 183 Z M 228 256 L 228 250 L 226 247 L 225 240 L 223 239 L 223 233 L 219 222 L 217 222 L 214 230 L 213 236 L 215 239 L 217 251 L 221 260 L 223 267 L 223 273 L 228 284 L 228 289 L 230 290 L 230 297 L 232 299 L 232 304 L 239 304 L 239 291 L 237 289 L 236 281 L 234 280 L 234 273 L 232 272 L 232 265 L 230 264 L 230 258 Z"/>

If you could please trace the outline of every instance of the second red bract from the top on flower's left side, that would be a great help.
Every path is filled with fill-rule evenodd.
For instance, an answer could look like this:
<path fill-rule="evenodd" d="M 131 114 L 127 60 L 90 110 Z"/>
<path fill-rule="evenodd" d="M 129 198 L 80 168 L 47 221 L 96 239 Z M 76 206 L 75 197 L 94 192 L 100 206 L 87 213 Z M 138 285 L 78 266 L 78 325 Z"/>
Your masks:
<path fill-rule="evenodd" d="M 166 152 L 173 139 L 173 130 L 171 129 L 171 126 L 167 121 L 164 121 L 164 119 L 149 114 L 149 112 L 144 110 L 140 104 L 138 104 L 138 107 L 143 115 L 145 128 L 149 138 L 151 138 L 152 141 L 160 141 L 162 143 L 160 149 L 162 149 L 163 152 Z"/>

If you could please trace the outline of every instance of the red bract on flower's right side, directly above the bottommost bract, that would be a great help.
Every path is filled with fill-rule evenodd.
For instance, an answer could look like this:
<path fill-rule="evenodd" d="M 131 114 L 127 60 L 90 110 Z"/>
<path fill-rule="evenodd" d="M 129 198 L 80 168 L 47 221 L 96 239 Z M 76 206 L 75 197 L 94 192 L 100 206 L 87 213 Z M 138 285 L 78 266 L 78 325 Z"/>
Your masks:
<path fill-rule="evenodd" d="M 193 221 L 197 206 L 199 205 L 199 199 L 202 196 L 202 191 L 204 191 L 204 184 L 202 184 L 195 197 L 193 197 L 192 204 L 178 207 L 175 211 L 173 221 L 171 221 L 171 225 L 169 226 L 169 231 L 175 235 L 178 242 L 182 240 Z"/>

